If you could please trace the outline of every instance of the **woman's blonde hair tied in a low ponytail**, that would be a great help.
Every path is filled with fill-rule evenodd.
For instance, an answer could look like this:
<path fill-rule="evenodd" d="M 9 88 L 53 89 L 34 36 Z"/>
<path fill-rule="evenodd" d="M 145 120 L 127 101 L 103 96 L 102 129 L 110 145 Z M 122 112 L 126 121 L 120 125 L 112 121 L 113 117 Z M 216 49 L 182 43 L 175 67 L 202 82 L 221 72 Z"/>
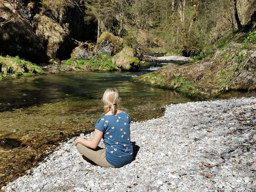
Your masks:
<path fill-rule="evenodd" d="M 104 92 L 101 101 L 104 103 L 104 111 L 106 113 L 108 112 L 108 108 L 110 108 L 112 114 L 116 114 L 117 105 L 120 104 L 121 98 L 116 88 L 108 88 Z"/>

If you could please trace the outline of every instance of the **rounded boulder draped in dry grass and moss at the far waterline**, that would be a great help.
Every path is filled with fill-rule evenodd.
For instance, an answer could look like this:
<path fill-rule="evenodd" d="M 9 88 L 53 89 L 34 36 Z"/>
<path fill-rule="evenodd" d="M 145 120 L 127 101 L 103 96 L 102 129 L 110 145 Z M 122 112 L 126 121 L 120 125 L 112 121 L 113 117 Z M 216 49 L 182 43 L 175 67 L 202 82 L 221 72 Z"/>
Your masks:
<path fill-rule="evenodd" d="M 117 53 L 112 62 L 124 71 L 137 71 L 140 68 L 140 60 L 133 56 L 132 48 L 128 46 Z"/>

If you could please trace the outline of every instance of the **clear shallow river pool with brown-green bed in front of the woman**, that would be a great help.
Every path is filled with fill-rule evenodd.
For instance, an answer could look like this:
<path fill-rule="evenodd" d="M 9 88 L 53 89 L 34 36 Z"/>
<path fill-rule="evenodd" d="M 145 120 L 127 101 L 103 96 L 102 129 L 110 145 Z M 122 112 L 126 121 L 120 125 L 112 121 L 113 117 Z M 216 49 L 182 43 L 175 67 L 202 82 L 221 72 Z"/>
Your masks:
<path fill-rule="evenodd" d="M 108 87 L 118 89 L 120 109 L 132 121 L 162 116 L 163 106 L 191 101 L 177 92 L 128 81 L 147 72 L 59 72 L 1 82 L 0 185 L 41 162 L 59 142 L 93 131 Z"/>

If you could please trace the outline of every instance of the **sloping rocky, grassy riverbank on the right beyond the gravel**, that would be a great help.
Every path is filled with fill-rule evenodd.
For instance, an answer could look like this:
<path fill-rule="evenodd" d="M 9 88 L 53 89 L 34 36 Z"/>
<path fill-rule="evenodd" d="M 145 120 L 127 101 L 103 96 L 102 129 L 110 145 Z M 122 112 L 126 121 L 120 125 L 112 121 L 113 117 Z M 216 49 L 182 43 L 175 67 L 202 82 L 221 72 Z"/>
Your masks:
<path fill-rule="evenodd" d="M 218 50 L 201 61 L 182 66 L 164 66 L 131 81 L 175 90 L 200 99 L 224 97 L 230 91 L 247 91 L 255 96 L 255 50 L 255 45 L 230 43 L 224 50 Z"/>

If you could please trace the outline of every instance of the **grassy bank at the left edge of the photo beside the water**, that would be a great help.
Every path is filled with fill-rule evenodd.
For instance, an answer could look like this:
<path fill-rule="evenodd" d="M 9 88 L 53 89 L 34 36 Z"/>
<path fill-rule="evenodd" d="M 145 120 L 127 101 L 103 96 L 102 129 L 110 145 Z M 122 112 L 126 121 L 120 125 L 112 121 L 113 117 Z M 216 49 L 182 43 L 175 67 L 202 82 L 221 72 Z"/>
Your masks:
<path fill-rule="evenodd" d="M 8 78 L 17 78 L 23 76 L 24 74 L 44 74 L 44 71 L 37 65 L 20 59 L 18 56 L 0 56 L 0 81 Z"/>

